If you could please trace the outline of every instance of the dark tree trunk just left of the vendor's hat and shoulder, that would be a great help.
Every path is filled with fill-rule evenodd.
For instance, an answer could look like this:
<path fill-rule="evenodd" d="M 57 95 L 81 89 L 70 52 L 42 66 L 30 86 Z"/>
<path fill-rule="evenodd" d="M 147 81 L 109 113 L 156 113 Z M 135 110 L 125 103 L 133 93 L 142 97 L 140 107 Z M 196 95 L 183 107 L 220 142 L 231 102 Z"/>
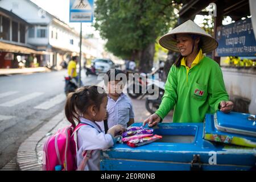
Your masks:
<path fill-rule="evenodd" d="M 143 73 L 150 73 L 153 66 L 155 54 L 155 43 L 150 43 L 141 51 L 141 59 L 139 61 L 139 71 Z"/>

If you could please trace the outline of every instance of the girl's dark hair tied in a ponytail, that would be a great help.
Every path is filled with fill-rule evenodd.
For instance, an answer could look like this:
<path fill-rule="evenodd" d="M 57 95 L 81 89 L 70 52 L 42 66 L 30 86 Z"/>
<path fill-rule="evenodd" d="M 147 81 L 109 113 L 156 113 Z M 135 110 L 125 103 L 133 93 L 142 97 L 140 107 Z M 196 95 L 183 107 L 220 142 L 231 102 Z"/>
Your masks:
<path fill-rule="evenodd" d="M 102 93 L 98 90 L 102 90 Z M 80 122 L 79 117 L 86 113 L 89 106 L 96 105 L 100 110 L 102 100 L 106 96 L 104 89 L 99 86 L 82 86 L 76 92 L 69 93 L 65 104 L 65 115 L 68 121 L 75 127 L 75 121 Z"/>

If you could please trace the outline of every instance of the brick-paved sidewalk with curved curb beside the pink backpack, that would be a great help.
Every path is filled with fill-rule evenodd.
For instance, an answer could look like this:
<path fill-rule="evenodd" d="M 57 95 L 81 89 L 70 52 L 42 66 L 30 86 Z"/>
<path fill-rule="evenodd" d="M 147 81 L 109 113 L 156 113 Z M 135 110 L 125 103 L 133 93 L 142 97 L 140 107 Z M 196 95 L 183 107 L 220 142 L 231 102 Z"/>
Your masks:
<path fill-rule="evenodd" d="M 131 100 L 135 114 L 135 122 L 143 122 L 150 116 L 145 108 L 145 101 Z M 164 118 L 163 122 L 172 121 L 172 111 Z M 43 159 L 43 145 L 49 135 L 56 133 L 60 128 L 70 125 L 65 119 L 64 111 L 57 114 L 38 131 L 27 138 L 19 147 L 15 158 L 1 170 L 41 171 Z M 17 167 L 18 166 L 18 167 Z"/>

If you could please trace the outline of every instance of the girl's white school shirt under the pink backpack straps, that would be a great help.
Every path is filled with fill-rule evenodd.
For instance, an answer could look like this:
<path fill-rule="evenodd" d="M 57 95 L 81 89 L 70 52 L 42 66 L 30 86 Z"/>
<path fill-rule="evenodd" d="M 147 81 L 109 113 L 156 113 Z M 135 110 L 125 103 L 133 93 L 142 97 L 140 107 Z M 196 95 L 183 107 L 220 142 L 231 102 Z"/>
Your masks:
<path fill-rule="evenodd" d="M 87 125 L 82 126 L 77 131 L 77 166 L 80 165 L 83 156 L 82 152 L 85 150 L 93 150 L 91 157 L 85 166 L 85 171 L 99 171 L 100 170 L 100 151 L 106 150 L 114 145 L 112 135 L 102 132 L 100 126 L 85 118 L 80 118 L 82 123 Z"/>

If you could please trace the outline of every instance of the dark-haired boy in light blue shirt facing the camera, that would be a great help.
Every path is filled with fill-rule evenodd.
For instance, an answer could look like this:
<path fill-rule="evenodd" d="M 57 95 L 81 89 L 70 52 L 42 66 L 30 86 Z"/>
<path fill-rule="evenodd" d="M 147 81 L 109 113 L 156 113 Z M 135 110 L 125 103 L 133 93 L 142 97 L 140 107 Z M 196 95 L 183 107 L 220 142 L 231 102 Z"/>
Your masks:
<path fill-rule="evenodd" d="M 107 113 L 104 122 L 98 122 L 105 133 L 114 125 L 122 125 L 126 128 L 134 123 L 133 105 L 130 98 L 122 93 L 125 80 L 119 79 L 118 74 L 125 76 L 125 73 L 119 69 L 110 69 L 106 73 L 108 76 Z"/>

